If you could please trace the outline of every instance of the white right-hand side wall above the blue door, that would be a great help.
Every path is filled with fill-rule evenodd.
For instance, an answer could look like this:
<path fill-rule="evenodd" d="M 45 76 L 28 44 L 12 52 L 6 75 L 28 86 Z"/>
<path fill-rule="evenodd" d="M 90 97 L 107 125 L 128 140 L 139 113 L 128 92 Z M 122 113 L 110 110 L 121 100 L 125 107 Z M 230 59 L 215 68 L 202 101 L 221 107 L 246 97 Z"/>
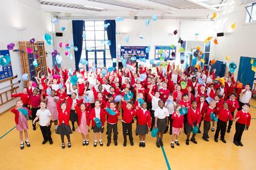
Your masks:
<path fill-rule="evenodd" d="M 230 56 L 228 62 L 235 62 L 237 77 L 239 60 L 241 56 L 256 57 L 256 24 L 245 24 L 245 5 L 219 13 L 215 29 L 217 32 L 228 32 L 229 35 L 219 37 L 219 45 L 215 46 L 214 56 L 218 60 L 225 61 L 226 55 Z M 236 28 L 231 29 L 231 24 L 236 23 Z M 227 70 L 228 71 L 228 64 Z"/>

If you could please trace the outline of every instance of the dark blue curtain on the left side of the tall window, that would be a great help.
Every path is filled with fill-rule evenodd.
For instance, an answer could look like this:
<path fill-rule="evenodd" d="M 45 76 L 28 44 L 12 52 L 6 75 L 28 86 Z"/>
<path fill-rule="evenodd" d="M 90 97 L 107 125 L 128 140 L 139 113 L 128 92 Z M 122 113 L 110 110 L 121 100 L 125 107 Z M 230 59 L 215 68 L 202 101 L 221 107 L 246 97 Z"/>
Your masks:
<path fill-rule="evenodd" d="M 75 51 L 75 64 L 76 70 L 79 70 L 79 62 L 82 54 L 82 46 L 83 46 L 83 31 L 84 31 L 84 21 L 77 20 L 72 21 L 73 27 L 73 42 L 74 46 L 78 48 L 77 52 Z"/>

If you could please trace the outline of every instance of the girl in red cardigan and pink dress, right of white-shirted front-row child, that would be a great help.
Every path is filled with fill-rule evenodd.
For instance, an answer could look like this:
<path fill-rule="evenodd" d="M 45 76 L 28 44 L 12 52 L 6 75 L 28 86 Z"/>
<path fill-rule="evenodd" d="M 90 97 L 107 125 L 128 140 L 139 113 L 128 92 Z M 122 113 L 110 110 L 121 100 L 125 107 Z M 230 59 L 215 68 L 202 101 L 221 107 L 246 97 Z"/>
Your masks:
<path fill-rule="evenodd" d="M 178 142 L 178 137 L 180 135 L 181 129 L 183 128 L 183 115 L 180 114 L 180 105 L 175 107 L 175 112 L 172 114 L 172 142 L 171 147 L 174 148 L 174 140 L 177 146 L 180 146 Z"/>

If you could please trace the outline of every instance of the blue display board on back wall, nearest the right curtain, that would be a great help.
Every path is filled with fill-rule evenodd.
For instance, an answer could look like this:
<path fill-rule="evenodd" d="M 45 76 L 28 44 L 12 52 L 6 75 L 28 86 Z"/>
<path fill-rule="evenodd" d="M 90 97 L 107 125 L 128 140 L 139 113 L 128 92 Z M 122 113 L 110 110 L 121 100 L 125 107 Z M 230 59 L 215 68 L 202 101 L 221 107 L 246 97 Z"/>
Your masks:
<path fill-rule="evenodd" d="M 146 53 L 147 47 L 148 46 L 121 46 L 121 56 L 124 57 L 125 55 L 129 55 L 136 56 L 137 59 L 141 57 L 148 59 L 148 53 Z"/>

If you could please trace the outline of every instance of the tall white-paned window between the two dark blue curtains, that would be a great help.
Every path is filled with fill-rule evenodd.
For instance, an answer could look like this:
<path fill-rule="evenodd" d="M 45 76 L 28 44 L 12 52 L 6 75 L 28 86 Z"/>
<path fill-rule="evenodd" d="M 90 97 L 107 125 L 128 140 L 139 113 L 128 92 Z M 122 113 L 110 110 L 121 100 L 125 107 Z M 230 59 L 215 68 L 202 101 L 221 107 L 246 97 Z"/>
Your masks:
<path fill-rule="evenodd" d="M 84 35 L 81 58 L 88 61 L 89 67 L 93 64 L 98 68 L 112 66 L 104 21 L 85 21 Z M 84 66 L 79 64 L 79 67 Z"/>

